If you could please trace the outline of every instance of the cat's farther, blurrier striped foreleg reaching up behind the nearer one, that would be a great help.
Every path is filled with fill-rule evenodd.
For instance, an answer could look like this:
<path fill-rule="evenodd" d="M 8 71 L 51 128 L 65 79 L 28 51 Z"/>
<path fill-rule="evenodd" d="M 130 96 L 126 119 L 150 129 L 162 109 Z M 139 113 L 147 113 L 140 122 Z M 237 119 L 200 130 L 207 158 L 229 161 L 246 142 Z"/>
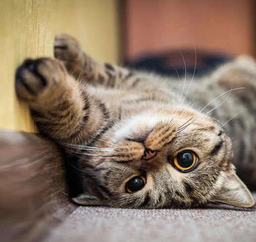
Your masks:
<path fill-rule="evenodd" d="M 136 82 L 136 76 L 128 69 L 98 61 L 87 55 L 77 40 L 59 34 L 54 41 L 54 56 L 61 60 L 68 72 L 77 80 L 93 85 L 114 87 Z"/>

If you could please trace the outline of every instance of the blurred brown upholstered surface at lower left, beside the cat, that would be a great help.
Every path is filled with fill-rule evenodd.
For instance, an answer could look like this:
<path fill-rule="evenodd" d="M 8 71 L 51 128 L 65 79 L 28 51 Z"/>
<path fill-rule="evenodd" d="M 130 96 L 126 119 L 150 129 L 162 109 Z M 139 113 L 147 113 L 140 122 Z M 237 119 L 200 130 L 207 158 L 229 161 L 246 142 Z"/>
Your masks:
<path fill-rule="evenodd" d="M 0 132 L 0 240 L 38 241 L 75 209 L 62 153 L 40 135 Z"/>

